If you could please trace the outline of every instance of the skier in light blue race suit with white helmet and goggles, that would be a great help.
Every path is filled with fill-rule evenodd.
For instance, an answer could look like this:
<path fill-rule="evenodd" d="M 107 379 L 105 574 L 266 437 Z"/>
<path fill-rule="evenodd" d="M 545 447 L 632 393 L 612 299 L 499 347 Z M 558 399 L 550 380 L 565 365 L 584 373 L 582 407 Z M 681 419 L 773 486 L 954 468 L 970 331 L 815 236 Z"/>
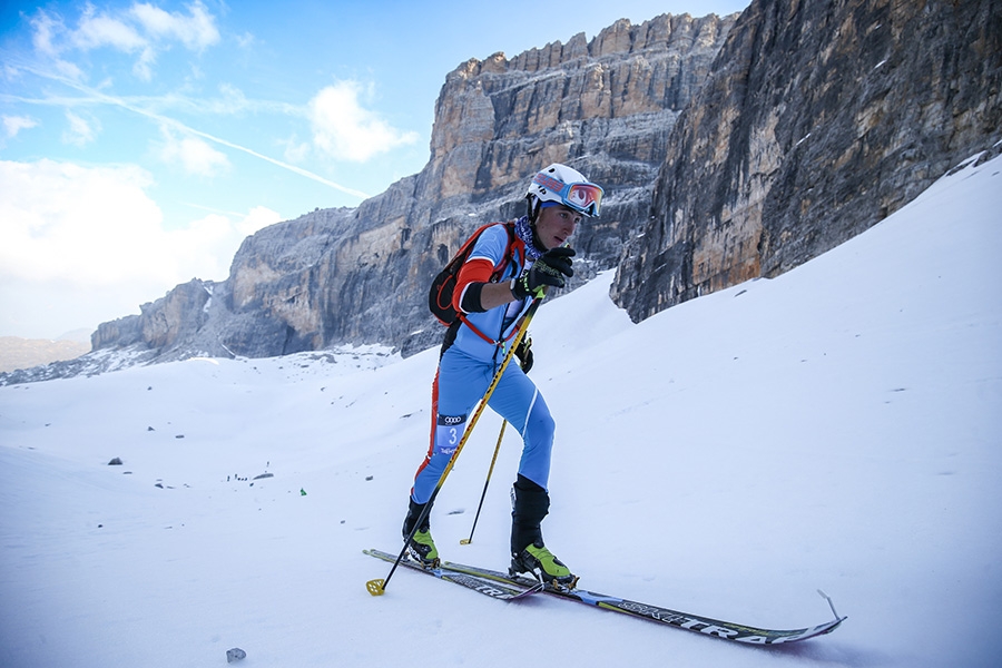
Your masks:
<path fill-rule="evenodd" d="M 449 328 L 442 344 L 432 385 L 431 444 L 414 477 L 404 540 L 414 531 L 425 504 L 433 501 L 466 418 L 484 395 L 532 299 L 541 297 L 547 286 L 563 287 L 566 277 L 573 275 L 574 250 L 568 239 L 582 216 L 599 215 L 602 189 L 579 171 L 554 164 L 532 178 L 525 199 L 528 215 L 514 222 L 513 235 L 505 225 L 484 229 L 459 272 L 453 305 L 462 317 Z M 501 276 L 492 282 L 499 265 Z M 520 365 L 508 365 L 488 402 L 519 430 L 523 441 L 512 489 L 511 570 L 571 586 L 577 578 L 547 549 L 540 530 L 550 505 L 547 481 L 554 423 L 536 384 L 525 375 L 532 364 L 528 336 L 515 353 Z M 438 563 L 439 552 L 428 510 L 407 542 L 407 552 L 431 567 Z"/>

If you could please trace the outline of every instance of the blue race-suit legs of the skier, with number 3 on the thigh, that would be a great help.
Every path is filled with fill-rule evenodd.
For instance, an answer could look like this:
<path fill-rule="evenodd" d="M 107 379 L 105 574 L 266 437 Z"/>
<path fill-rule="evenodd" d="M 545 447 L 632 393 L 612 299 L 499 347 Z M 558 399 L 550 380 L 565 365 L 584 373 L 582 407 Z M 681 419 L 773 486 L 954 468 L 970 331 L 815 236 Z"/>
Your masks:
<path fill-rule="evenodd" d="M 411 490 L 415 502 L 425 503 L 431 498 L 463 436 L 470 413 L 487 392 L 495 371 L 493 362 L 470 357 L 456 346 L 442 355 L 432 391 L 431 445 Z M 519 367 L 518 360 L 513 358 L 505 367 L 488 405 L 522 436 L 519 473 L 546 490 L 556 424 L 542 394 Z"/>

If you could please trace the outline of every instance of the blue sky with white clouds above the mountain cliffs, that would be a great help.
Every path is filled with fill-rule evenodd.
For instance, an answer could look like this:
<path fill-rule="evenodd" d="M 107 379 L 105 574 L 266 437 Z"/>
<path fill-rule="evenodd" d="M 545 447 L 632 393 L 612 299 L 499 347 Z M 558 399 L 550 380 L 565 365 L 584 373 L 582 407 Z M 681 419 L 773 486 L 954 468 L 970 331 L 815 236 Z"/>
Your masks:
<path fill-rule="evenodd" d="M 470 58 L 747 4 L 4 1 L 0 336 L 89 333 L 225 279 L 266 225 L 416 174 Z"/>

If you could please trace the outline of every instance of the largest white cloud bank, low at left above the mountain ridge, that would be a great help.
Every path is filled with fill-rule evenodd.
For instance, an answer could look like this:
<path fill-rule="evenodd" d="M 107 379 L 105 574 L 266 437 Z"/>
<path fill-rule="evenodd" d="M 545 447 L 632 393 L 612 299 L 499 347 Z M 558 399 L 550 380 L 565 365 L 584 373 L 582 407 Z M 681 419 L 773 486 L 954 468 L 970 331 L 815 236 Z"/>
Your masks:
<path fill-rule="evenodd" d="M 279 220 L 255 207 L 167 230 L 151 185 L 135 166 L 0 160 L 0 328 L 17 328 L 0 333 L 53 337 L 193 277 L 222 281 L 244 237 Z"/>

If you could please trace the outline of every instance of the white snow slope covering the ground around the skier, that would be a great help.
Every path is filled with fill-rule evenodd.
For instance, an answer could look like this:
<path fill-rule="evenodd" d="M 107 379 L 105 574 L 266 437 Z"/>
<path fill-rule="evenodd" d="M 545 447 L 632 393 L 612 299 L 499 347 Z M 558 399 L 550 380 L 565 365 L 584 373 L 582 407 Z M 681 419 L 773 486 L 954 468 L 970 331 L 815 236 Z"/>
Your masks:
<path fill-rule="evenodd" d="M 610 274 L 547 304 L 547 543 L 595 591 L 829 636 L 747 647 L 406 570 L 431 350 L 190 360 L 0 389 L 0 665 L 998 666 L 1002 158 L 773 281 L 635 325 Z M 373 360 L 369 355 L 366 360 Z M 433 517 L 507 566 L 485 413 Z M 124 464 L 108 465 L 112 458 Z M 256 475 L 271 478 L 255 480 Z"/>

